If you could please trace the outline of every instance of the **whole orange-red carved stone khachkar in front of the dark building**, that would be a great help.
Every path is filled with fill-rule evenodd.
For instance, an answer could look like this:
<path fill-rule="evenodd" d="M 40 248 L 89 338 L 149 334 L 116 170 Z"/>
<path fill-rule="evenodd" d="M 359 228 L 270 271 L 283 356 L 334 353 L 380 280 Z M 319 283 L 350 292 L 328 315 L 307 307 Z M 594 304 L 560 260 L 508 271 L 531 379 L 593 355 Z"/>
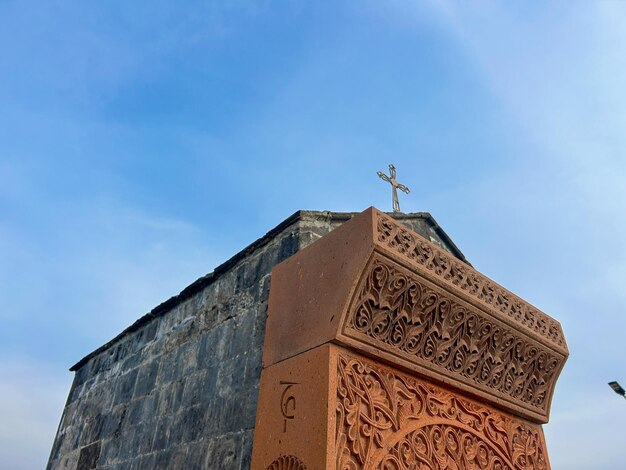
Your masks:
<path fill-rule="evenodd" d="M 253 470 L 547 469 L 559 323 L 368 209 L 274 268 Z"/>

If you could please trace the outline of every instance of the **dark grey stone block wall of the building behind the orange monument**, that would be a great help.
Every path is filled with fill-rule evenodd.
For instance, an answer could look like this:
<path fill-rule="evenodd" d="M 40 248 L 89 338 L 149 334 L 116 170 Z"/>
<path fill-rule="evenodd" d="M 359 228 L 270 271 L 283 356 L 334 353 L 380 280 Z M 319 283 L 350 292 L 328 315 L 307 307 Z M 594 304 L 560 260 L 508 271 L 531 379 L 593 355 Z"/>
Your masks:
<path fill-rule="evenodd" d="M 249 469 L 271 270 L 351 215 L 296 213 L 76 364 L 48 469 Z"/>

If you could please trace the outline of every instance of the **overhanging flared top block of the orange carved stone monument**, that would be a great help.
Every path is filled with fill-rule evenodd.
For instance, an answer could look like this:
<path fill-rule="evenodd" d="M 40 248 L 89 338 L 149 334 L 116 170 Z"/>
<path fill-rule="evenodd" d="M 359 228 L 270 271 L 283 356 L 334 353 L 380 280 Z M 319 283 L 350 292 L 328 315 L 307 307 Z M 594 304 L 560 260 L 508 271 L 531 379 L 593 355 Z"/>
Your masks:
<path fill-rule="evenodd" d="M 264 367 L 328 342 L 538 423 L 568 356 L 556 320 L 374 208 L 272 272 Z"/>

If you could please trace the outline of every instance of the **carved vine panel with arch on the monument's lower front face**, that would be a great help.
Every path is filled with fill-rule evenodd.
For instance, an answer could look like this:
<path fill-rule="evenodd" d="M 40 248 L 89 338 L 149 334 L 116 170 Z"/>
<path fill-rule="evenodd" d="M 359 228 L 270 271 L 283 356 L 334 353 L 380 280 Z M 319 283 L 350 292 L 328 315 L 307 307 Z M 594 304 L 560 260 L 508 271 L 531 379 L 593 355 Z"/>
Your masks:
<path fill-rule="evenodd" d="M 337 373 L 337 470 L 549 468 L 538 426 L 362 360 Z"/>

